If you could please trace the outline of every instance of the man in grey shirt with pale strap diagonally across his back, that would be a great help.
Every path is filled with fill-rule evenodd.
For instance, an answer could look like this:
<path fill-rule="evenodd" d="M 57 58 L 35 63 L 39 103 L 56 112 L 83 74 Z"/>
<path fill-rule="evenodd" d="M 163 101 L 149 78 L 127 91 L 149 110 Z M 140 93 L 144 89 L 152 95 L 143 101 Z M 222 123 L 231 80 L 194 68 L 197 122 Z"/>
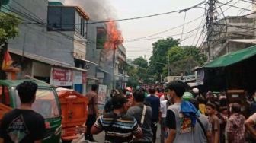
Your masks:
<path fill-rule="evenodd" d="M 152 108 L 146 106 L 144 102 L 145 96 L 144 91 L 136 90 L 133 92 L 133 103 L 127 110 L 127 115 L 134 116 L 139 126 L 142 128 L 143 137 L 136 138 L 135 143 L 151 143 L 152 142 L 152 129 L 151 129 L 151 119 L 152 119 Z"/>

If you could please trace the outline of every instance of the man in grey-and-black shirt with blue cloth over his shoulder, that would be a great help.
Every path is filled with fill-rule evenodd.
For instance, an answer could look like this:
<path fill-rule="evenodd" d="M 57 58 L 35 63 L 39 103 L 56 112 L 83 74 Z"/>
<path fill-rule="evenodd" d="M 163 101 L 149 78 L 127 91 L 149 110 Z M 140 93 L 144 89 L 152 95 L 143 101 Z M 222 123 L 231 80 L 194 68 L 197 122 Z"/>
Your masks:
<path fill-rule="evenodd" d="M 179 142 L 207 142 L 210 136 L 210 123 L 203 115 L 200 115 L 198 108 L 188 102 L 188 93 L 184 99 L 185 85 L 181 81 L 173 81 L 169 86 L 169 94 L 174 104 L 168 106 L 166 126 L 169 129 L 168 138 L 165 143 Z"/>

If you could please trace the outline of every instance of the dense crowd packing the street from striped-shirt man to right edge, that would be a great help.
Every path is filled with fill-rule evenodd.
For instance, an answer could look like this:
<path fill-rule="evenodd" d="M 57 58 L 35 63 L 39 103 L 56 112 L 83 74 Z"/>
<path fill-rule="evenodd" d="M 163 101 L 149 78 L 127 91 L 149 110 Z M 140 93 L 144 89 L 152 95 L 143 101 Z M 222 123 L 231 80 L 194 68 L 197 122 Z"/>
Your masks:
<path fill-rule="evenodd" d="M 229 103 L 224 93 L 202 95 L 181 81 L 160 90 L 113 90 L 90 131 L 104 131 L 105 142 L 155 143 L 160 125 L 161 143 L 256 142 L 256 92 L 252 98 L 248 117 L 241 101 Z"/>

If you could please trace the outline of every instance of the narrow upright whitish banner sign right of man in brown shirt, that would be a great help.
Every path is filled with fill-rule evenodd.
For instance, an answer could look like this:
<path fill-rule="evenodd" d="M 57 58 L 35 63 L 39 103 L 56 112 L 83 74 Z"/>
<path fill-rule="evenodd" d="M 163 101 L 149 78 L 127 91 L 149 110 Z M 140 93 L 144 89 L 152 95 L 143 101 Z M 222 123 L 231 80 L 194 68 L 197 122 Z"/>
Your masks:
<path fill-rule="evenodd" d="M 106 96 L 107 96 L 107 85 L 99 84 L 98 87 L 98 109 L 99 113 L 103 113 L 104 104 L 106 103 Z"/>

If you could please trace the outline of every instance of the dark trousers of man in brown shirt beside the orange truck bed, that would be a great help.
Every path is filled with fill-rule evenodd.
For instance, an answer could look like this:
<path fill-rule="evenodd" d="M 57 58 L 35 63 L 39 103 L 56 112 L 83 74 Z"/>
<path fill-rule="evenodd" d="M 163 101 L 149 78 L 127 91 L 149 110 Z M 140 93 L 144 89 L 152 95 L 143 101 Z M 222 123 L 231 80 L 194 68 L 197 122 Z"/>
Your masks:
<path fill-rule="evenodd" d="M 96 122 L 96 114 L 88 114 L 88 118 L 86 121 L 86 132 L 85 132 L 85 140 L 93 141 L 94 138 L 91 134 L 91 127 L 94 125 L 94 122 Z"/>

